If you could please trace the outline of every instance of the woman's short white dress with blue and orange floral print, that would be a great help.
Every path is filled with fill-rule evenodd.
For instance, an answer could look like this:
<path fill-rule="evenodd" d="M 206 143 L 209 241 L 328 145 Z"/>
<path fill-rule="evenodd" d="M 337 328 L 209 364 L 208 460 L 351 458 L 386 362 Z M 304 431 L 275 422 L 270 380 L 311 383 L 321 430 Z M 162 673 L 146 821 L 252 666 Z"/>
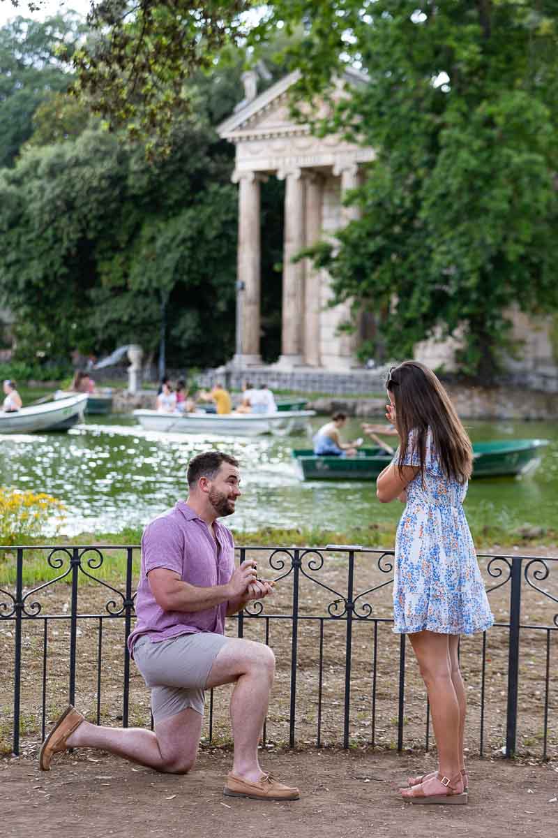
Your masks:
<path fill-rule="evenodd" d="M 405 465 L 419 465 L 409 434 Z M 397 463 L 396 452 L 394 462 Z M 397 526 L 393 585 L 394 631 L 474 634 L 494 623 L 473 539 L 463 511 L 467 484 L 444 476 L 427 433 L 424 485 L 407 485 Z"/>

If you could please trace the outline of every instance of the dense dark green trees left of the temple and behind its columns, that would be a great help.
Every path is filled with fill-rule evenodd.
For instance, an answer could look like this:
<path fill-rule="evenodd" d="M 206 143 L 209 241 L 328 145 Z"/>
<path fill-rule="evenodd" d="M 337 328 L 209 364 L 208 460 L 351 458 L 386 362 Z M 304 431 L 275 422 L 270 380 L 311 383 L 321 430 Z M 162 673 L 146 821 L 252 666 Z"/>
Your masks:
<path fill-rule="evenodd" d="M 260 88 L 284 72 L 269 66 Z M 72 349 L 100 355 L 138 340 L 156 354 L 163 304 L 169 365 L 202 368 L 230 356 L 238 198 L 233 147 L 211 125 L 242 97 L 243 69 L 243 52 L 225 49 L 211 72 L 196 70 L 192 112 L 169 123 L 166 155 L 105 131 L 65 93 L 38 106 L 17 166 L 0 170 L 0 305 L 16 315 L 18 363 L 45 367 Z M 272 182 L 262 194 L 269 360 L 279 354 L 283 189 Z M 33 375 L 45 376 L 53 377 Z"/>

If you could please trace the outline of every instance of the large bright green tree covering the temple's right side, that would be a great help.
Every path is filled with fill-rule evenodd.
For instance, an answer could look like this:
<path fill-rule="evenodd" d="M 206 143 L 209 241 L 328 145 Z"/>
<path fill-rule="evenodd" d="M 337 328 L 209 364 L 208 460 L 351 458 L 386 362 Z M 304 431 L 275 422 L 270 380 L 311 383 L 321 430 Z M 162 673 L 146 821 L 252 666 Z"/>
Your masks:
<path fill-rule="evenodd" d="M 490 380 L 513 349 L 509 308 L 558 306 L 557 11 L 550 0 L 278 0 L 262 23 L 305 18 L 291 50 L 299 98 L 327 97 L 344 61 L 370 76 L 316 123 L 377 158 L 353 196 L 361 220 L 315 256 L 335 302 L 384 313 L 394 357 L 437 327 L 463 329 L 463 370 Z"/>

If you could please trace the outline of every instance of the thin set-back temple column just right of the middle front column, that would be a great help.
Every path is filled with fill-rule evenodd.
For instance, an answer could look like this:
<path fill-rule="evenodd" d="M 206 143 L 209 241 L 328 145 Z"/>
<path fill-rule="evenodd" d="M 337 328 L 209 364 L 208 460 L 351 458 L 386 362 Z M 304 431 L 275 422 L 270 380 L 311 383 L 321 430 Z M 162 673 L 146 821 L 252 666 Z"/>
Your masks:
<path fill-rule="evenodd" d="M 324 180 L 318 173 L 306 178 L 306 245 L 320 240 Z M 319 367 L 320 356 L 320 284 L 321 271 L 305 261 L 305 364 Z"/>

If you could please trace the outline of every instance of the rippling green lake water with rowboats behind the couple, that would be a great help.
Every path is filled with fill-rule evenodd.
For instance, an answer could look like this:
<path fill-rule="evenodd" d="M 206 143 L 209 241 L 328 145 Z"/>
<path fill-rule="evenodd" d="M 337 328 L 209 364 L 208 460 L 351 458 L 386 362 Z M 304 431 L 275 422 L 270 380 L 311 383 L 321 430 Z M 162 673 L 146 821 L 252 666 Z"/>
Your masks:
<path fill-rule="evenodd" d="M 325 419 L 315 417 L 313 428 Z M 360 421 L 359 421 L 360 422 Z M 356 420 L 346 438 L 360 435 Z M 466 511 L 474 529 L 530 524 L 555 527 L 558 511 L 558 427 L 555 422 L 467 422 L 474 441 L 545 437 L 542 463 L 524 478 L 469 484 Z M 186 467 L 196 453 L 218 447 L 242 463 L 243 497 L 228 519 L 233 529 L 315 526 L 346 530 L 395 521 L 401 504 L 380 504 L 365 482 L 302 483 L 290 457 L 305 437 L 232 440 L 160 434 L 141 429 L 132 416 L 90 416 L 65 434 L 0 437 L 0 484 L 33 489 L 64 501 L 63 530 L 118 532 L 141 527 L 186 496 Z M 45 532 L 45 535 L 49 533 Z"/>

